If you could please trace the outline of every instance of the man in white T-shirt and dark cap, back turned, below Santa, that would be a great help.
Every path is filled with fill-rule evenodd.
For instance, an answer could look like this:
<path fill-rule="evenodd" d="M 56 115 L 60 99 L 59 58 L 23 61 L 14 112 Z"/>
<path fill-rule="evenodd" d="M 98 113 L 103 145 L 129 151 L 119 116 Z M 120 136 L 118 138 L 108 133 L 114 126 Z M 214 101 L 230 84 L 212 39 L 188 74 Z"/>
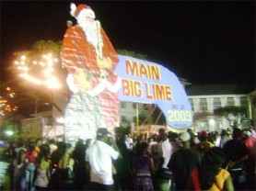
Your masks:
<path fill-rule="evenodd" d="M 97 140 L 87 148 L 86 161 L 90 177 L 89 190 L 112 190 L 112 162 L 120 155 L 120 151 L 113 140 L 108 136 L 108 129 L 99 128 Z"/>

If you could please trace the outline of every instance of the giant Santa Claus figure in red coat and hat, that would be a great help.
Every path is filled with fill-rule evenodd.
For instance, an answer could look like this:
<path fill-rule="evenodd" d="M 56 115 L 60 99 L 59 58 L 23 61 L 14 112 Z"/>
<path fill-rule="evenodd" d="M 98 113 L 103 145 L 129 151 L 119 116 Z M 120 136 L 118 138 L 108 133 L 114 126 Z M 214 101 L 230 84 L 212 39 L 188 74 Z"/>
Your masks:
<path fill-rule="evenodd" d="M 113 73 L 118 54 L 90 6 L 71 4 L 77 25 L 67 28 L 61 52 L 68 71 L 67 84 L 74 93 L 65 108 L 65 139 L 95 138 L 98 128 L 119 123 L 118 90 L 121 79 Z"/>

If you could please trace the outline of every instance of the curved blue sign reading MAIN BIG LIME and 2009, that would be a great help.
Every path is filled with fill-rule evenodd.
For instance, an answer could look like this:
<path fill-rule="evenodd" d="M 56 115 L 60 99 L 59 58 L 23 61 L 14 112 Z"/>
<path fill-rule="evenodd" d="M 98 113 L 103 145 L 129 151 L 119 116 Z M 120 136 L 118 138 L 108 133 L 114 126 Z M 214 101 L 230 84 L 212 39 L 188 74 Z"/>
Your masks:
<path fill-rule="evenodd" d="M 174 73 L 154 63 L 119 55 L 115 72 L 122 78 L 120 101 L 157 104 L 175 129 L 192 126 L 192 108 Z"/>

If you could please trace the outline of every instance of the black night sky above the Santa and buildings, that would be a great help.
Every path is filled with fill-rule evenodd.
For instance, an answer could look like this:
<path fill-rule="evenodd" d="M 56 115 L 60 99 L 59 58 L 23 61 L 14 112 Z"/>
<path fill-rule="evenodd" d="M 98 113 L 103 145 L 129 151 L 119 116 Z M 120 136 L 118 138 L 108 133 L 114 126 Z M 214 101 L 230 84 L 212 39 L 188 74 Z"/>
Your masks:
<path fill-rule="evenodd" d="M 13 52 L 64 38 L 70 3 L 95 11 L 115 49 L 144 53 L 192 84 L 255 82 L 254 1 L 2 1 L 1 80 Z"/>

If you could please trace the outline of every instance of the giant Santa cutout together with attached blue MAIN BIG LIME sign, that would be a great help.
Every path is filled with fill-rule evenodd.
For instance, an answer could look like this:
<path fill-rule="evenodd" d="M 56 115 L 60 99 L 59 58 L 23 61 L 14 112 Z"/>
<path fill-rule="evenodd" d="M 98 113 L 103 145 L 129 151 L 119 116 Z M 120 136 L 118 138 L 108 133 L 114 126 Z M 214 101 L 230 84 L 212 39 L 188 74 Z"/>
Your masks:
<path fill-rule="evenodd" d="M 119 102 L 157 104 L 168 124 L 192 125 L 192 111 L 179 80 L 152 62 L 118 56 L 90 6 L 71 4 L 77 25 L 68 26 L 61 51 L 66 82 L 74 93 L 64 112 L 65 140 L 95 139 L 98 128 L 119 126 Z"/>

